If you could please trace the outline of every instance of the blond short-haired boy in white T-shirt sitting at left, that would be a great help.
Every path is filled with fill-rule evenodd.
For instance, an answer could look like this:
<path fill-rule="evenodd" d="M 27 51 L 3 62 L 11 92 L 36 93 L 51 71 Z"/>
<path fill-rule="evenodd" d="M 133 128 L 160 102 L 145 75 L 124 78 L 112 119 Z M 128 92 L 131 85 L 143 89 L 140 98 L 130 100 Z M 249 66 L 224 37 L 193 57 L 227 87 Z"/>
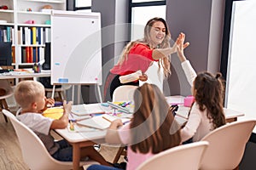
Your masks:
<path fill-rule="evenodd" d="M 68 124 L 68 113 L 71 112 L 72 102 L 63 103 L 64 113 L 59 120 L 44 117 L 41 113 L 46 109 L 46 105 L 54 104 L 53 99 L 46 99 L 44 96 L 44 86 L 36 81 L 19 82 L 15 88 L 15 100 L 21 109 L 17 112 L 17 119 L 30 127 L 43 141 L 49 154 L 59 161 L 73 161 L 73 148 L 66 140 L 55 142 L 50 135 L 50 129 L 66 128 Z M 93 146 L 85 147 L 81 151 L 81 158 L 89 157 L 98 161 L 102 165 L 107 165 L 107 161 L 96 151 Z"/>

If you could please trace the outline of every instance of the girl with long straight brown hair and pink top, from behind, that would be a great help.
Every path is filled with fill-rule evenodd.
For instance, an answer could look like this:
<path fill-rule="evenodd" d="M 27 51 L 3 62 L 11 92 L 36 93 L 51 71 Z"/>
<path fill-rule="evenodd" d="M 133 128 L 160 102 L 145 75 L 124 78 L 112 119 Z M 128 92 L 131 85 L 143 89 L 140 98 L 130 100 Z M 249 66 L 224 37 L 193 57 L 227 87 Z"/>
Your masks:
<path fill-rule="evenodd" d="M 144 83 L 134 94 L 135 113 L 130 124 L 122 127 L 115 120 L 108 128 L 106 142 L 109 144 L 128 144 L 127 170 L 136 169 L 149 157 L 181 144 L 179 126 L 165 96 L 154 84 Z M 121 127 L 121 128 L 119 128 Z M 92 169 L 117 169 L 92 165 Z"/>

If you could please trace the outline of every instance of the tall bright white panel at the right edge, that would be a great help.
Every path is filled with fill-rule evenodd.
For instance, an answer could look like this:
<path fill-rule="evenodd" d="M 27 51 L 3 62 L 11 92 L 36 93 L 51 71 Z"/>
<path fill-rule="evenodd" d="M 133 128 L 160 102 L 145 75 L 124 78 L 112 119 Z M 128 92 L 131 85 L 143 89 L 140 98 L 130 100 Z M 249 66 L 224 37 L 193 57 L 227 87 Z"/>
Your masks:
<path fill-rule="evenodd" d="M 255 1 L 233 3 L 225 106 L 244 113 L 239 120 L 256 118 L 255 8 Z"/>

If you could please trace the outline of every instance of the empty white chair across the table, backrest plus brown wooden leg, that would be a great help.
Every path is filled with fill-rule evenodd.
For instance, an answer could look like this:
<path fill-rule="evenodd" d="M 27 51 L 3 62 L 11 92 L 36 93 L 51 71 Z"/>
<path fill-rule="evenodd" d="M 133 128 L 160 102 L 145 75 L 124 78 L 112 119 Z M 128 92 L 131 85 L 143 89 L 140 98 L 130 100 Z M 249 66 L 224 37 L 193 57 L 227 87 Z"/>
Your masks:
<path fill-rule="evenodd" d="M 113 102 L 133 100 L 133 94 L 136 89 L 137 86 L 132 85 L 119 86 L 113 91 Z M 117 163 L 119 161 L 120 156 L 126 155 L 127 151 L 125 150 L 125 147 L 119 147 L 116 156 L 114 156 L 113 158 L 113 163 Z"/>

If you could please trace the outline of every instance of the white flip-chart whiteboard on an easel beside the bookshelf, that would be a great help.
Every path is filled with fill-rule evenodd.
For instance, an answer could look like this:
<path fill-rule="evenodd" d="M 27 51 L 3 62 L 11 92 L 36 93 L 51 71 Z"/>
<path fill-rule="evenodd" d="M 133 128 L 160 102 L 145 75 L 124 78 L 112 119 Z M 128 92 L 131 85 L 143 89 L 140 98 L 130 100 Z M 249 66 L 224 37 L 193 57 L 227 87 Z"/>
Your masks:
<path fill-rule="evenodd" d="M 51 84 L 102 85 L 101 14 L 53 10 Z"/>

